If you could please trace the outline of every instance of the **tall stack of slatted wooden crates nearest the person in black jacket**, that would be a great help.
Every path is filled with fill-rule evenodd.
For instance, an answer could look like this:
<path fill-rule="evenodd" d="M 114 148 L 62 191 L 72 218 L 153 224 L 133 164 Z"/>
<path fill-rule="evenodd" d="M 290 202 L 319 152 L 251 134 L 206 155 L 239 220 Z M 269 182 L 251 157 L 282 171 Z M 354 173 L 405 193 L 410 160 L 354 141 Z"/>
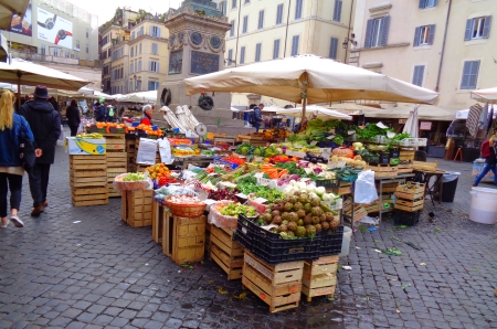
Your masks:
<path fill-rule="evenodd" d="M 107 157 L 70 156 L 70 185 L 74 206 L 107 204 Z"/>

